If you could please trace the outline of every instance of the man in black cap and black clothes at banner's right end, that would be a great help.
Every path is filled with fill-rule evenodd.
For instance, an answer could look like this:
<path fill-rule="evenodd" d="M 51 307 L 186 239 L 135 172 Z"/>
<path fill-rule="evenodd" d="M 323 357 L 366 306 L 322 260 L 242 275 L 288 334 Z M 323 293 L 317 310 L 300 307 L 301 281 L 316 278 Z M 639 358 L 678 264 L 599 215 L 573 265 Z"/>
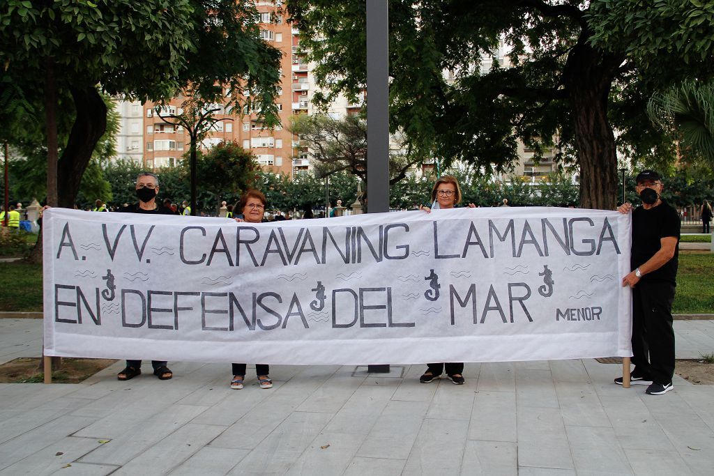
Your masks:
<path fill-rule="evenodd" d="M 663 183 L 655 171 L 638 174 L 635 191 L 642 200 L 632 213 L 632 271 L 623 286 L 633 291 L 632 362 L 633 385 L 649 385 L 650 395 L 672 390 L 674 375 L 674 330 L 672 302 L 680 238 L 677 211 L 662 200 Z M 620 213 L 630 213 L 624 203 Z M 615 383 L 622 385 L 623 379 Z"/>

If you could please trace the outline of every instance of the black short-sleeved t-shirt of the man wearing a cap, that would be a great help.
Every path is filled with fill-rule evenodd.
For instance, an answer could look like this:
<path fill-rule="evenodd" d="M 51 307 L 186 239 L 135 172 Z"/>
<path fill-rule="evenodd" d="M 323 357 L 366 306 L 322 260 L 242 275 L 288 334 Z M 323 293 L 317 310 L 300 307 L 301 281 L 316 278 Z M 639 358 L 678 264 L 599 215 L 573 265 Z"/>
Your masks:
<path fill-rule="evenodd" d="M 677 211 L 664 201 L 645 210 L 641 206 L 632 213 L 632 268 L 643 265 L 661 248 L 660 240 L 677 238 L 674 256 L 658 270 L 642 277 L 645 282 L 668 282 L 676 284 L 679 256 L 680 222 Z"/>

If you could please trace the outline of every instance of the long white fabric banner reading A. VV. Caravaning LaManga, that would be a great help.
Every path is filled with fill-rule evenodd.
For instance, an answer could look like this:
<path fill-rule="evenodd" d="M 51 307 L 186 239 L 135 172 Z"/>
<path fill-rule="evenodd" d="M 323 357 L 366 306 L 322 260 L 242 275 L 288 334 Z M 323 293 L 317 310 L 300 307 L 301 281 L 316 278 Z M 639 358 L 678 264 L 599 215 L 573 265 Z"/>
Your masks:
<path fill-rule="evenodd" d="M 629 356 L 630 216 L 456 208 L 236 223 L 54 208 L 46 355 L 269 364 Z"/>

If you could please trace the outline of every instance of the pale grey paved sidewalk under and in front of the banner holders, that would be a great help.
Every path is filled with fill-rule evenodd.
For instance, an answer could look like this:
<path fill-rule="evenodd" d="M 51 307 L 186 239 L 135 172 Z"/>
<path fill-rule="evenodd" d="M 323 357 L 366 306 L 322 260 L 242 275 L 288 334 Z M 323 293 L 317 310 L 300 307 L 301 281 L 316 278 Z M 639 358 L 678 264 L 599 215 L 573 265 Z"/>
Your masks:
<path fill-rule="evenodd" d="M 0 319 L 0 362 L 41 353 L 41 320 Z M 676 321 L 678 358 L 714 352 L 714 320 Z M 0 384 L 0 475 L 710 475 L 714 386 L 645 395 L 595 360 L 466 364 L 466 385 L 353 367 L 169 363 L 77 385 Z M 144 370 L 150 369 L 148 363 Z"/>

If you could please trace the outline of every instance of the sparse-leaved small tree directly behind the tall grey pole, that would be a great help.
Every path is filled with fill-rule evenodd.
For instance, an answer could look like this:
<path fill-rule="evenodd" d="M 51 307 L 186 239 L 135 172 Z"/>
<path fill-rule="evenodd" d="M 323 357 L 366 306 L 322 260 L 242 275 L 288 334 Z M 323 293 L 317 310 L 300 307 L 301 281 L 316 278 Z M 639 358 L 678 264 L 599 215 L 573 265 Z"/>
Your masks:
<path fill-rule="evenodd" d="M 337 172 L 348 172 L 367 183 L 367 123 L 364 116 L 333 118 L 328 115 L 293 116 L 289 127 L 300 139 L 300 146 L 312 151 L 316 176 L 323 178 Z M 423 161 L 423 156 L 408 143 L 395 144 L 398 150 L 389 154 L 389 184 L 401 181 L 407 171 Z"/>

